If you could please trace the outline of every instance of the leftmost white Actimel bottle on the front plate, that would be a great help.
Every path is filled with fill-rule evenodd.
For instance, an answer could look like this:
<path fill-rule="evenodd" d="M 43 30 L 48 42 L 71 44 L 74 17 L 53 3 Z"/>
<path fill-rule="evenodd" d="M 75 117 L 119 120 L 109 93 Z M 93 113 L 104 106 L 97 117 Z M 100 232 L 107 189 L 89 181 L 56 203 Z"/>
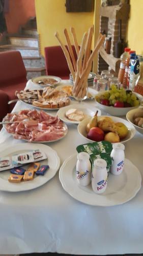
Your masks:
<path fill-rule="evenodd" d="M 78 184 L 87 186 L 91 182 L 91 162 L 90 155 L 86 152 L 80 152 L 77 155 L 76 177 Z"/>

